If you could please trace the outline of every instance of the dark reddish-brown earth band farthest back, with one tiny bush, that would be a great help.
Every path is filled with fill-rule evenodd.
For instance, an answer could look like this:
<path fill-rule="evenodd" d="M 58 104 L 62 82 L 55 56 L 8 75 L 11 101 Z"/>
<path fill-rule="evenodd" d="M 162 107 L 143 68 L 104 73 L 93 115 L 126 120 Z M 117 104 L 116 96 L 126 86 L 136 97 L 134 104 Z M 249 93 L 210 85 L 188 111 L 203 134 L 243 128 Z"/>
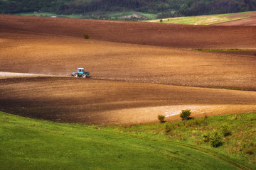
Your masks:
<path fill-rule="evenodd" d="M 256 48 L 255 26 L 188 26 L 0 15 L 0 28 L 183 48 Z"/>

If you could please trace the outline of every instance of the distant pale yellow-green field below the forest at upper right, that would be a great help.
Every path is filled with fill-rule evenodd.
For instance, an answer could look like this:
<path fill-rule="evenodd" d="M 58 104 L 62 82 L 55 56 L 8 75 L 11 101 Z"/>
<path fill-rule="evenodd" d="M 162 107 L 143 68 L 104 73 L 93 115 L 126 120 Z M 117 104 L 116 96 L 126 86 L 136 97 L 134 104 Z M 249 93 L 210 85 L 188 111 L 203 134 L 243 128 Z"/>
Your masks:
<path fill-rule="evenodd" d="M 248 13 L 248 12 L 244 12 Z M 234 15 L 238 13 L 225 13 L 220 15 L 207 15 L 207 16 L 184 16 L 184 17 L 177 17 L 177 18 L 163 18 L 153 21 L 146 21 L 146 22 L 157 22 L 157 23 L 178 23 L 178 24 L 190 24 L 190 25 L 210 25 L 214 23 L 222 23 L 227 21 L 234 21 L 238 19 L 248 18 L 228 18 L 228 15 Z"/>

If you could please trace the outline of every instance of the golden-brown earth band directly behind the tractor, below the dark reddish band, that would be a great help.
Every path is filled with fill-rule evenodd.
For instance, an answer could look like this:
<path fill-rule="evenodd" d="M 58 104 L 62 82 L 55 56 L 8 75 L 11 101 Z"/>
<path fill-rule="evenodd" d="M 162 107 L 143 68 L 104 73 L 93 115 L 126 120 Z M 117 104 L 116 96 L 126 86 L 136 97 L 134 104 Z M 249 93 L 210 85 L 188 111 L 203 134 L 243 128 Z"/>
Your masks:
<path fill-rule="evenodd" d="M 4 31 L 0 72 L 69 76 L 85 67 L 93 79 L 256 91 L 256 57 L 100 42 Z"/>

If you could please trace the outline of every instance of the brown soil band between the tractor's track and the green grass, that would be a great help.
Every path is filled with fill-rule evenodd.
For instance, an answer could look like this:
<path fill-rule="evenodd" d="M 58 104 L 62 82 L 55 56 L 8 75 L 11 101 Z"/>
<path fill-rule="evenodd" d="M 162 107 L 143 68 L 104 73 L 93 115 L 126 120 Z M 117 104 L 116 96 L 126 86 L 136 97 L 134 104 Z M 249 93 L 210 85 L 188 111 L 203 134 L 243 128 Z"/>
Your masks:
<path fill-rule="evenodd" d="M 193 117 L 256 110 L 256 92 L 251 91 L 64 77 L 1 79 L 0 82 L 1 111 L 46 120 L 149 123 L 156 121 L 158 114 L 172 115 L 188 108 L 192 109 Z"/>

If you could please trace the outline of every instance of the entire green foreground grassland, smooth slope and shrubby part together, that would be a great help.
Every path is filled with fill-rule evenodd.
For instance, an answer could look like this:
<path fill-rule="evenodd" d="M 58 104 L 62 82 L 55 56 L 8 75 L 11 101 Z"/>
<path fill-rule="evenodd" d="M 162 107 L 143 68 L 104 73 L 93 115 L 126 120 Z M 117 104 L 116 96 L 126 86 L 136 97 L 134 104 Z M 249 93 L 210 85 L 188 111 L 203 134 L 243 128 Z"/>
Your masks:
<path fill-rule="evenodd" d="M 253 151 L 248 155 L 228 152 L 230 147 L 226 148 L 226 143 L 241 140 L 236 135 L 241 130 L 246 138 L 240 141 L 242 147 L 256 147 L 252 133 L 255 114 L 207 118 L 208 123 L 199 119 L 96 126 L 53 123 L 0 112 L 0 169 L 246 169 L 240 164 L 255 169 L 255 162 L 250 162 L 255 160 Z M 218 148 L 202 142 L 201 133 L 218 129 L 220 125 L 215 125 L 223 123 L 223 119 L 239 140 L 230 137 L 232 140 L 225 140 Z M 230 125 L 228 120 L 234 123 Z"/>

